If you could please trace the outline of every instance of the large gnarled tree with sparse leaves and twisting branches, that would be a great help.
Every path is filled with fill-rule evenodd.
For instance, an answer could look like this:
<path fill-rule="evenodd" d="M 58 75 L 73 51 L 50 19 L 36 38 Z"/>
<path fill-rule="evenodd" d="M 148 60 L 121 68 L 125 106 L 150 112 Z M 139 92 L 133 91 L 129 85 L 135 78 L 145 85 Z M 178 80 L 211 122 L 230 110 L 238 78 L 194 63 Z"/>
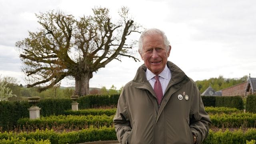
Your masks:
<path fill-rule="evenodd" d="M 36 14 L 42 26 L 38 32 L 16 42 L 21 50 L 22 70 L 28 76 L 28 87 L 38 86 L 41 92 L 67 76 L 75 79 L 75 95 L 89 94 L 89 80 L 99 68 L 114 59 L 132 56 L 134 42 L 127 37 L 140 28 L 128 19 L 128 8 L 118 12 L 112 22 L 107 8 L 93 8 L 91 16 L 76 20 L 63 12 Z"/>

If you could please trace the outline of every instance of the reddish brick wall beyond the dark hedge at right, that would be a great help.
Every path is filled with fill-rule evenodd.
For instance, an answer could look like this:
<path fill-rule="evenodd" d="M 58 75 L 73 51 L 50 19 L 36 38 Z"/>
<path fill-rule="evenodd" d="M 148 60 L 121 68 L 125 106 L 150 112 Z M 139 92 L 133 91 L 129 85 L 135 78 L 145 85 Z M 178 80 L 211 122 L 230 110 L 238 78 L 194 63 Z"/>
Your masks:
<path fill-rule="evenodd" d="M 245 96 L 247 82 L 231 86 L 222 90 L 222 96 Z"/>

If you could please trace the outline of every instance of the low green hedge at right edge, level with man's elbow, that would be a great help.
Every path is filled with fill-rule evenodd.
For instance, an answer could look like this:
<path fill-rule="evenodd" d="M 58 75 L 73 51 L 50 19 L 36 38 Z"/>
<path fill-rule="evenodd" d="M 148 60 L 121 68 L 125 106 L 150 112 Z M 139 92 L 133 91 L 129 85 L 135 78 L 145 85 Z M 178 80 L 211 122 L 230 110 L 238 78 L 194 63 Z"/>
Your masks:
<path fill-rule="evenodd" d="M 252 113 L 214 114 L 210 119 L 217 128 L 256 128 L 256 114 Z"/>

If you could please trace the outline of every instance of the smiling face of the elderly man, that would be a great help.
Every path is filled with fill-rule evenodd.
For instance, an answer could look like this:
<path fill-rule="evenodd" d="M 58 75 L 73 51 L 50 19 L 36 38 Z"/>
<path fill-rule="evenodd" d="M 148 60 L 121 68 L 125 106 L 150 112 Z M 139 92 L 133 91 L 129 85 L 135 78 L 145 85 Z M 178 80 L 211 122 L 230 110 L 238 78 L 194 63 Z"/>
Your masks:
<path fill-rule="evenodd" d="M 146 67 L 151 72 L 158 75 L 165 68 L 170 50 L 168 50 L 168 52 L 166 51 L 162 36 L 146 36 L 143 40 L 143 48 L 142 52 L 140 52 L 140 56 L 142 60 L 144 60 Z"/>

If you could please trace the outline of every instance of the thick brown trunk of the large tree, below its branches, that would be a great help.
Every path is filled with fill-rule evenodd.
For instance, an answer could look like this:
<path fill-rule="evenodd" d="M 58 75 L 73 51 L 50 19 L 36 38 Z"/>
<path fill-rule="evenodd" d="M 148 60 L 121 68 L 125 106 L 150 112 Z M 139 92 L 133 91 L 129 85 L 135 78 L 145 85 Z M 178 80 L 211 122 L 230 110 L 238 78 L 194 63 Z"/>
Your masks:
<path fill-rule="evenodd" d="M 90 94 L 89 91 L 89 80 L 92 78 L 92 73 L 84 73 L 80 76 L 75 77 L 76 90 L 74 95 L 85 96 Z"/>

